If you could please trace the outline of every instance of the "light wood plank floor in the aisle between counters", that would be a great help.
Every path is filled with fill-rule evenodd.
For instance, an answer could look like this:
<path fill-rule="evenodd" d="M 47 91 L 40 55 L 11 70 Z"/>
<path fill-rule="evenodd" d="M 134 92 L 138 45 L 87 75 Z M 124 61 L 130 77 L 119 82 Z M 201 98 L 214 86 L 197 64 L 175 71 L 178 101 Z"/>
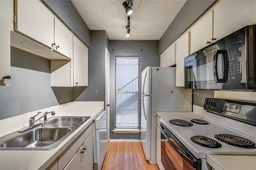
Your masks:
<path fill-rule="evenodd" d="M 140 142 L 109 142 L 102 170 L 159 170 L 146 160 Z"/>

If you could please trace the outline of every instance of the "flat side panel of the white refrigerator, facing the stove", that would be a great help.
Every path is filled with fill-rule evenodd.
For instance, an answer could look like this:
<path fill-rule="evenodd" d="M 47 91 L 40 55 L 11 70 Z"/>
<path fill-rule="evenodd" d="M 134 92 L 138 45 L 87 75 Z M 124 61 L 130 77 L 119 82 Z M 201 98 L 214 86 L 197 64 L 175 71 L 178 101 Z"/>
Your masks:
<path fill-rule="evenodd" d="M 184 93 L 183 87 L 176 87 L 175 67 L 152 67 L 151 111 L 150 111 L 150 164 L 156 164 L 156 111 L 191 112 L 192 94 Z M 187 91 L 188 92 L 188 91 Z M 192 90 L 190 91 L 192 92 Z"/>

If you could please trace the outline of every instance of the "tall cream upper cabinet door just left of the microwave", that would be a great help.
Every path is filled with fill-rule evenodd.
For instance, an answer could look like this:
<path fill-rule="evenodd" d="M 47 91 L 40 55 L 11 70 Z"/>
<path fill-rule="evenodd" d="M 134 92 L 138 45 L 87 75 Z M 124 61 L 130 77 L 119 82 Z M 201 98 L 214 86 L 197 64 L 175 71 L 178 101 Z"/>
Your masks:
<path fill-rule="evenodd" d="M 176 41 L 176 86 L 184 87 L 184 57 L 189 55 L 189 33 Z"/>

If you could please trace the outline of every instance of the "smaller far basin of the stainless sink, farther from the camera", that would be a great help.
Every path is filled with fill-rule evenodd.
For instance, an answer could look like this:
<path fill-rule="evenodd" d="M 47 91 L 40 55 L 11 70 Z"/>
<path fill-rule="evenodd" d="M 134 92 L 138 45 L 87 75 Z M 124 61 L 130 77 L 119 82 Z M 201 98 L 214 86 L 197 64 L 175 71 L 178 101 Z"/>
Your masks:
<path fill-rule="evenodd" d="M 89 118 L 90 117 L 58 117 L 44 123 L 42 127 L 75 127 Z"/>

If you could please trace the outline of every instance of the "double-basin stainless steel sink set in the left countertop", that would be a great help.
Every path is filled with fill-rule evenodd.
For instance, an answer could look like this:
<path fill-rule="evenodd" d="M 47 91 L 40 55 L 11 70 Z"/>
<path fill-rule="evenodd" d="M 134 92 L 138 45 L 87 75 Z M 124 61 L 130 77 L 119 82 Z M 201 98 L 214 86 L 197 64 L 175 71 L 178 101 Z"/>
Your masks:
<path fill-rule="evenodd" d="M 0 139 L 0 150 L 50 150 L 57 147 L 87 117 L 52 117 L 52 120 L 25 132 L 14 132 Z"/>

